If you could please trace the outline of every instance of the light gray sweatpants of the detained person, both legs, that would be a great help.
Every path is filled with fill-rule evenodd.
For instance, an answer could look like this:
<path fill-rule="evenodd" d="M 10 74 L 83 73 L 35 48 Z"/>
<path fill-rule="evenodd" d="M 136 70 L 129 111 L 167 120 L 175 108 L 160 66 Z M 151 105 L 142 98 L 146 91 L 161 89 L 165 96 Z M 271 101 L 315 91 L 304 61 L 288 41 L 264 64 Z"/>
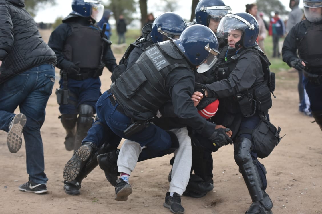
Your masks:
<path fill-rule="evenodd" d="M 191 170 L 192 148 L 191 139 L 187 128 L 170 130 L 178 138 L 179 148 L 175 150 L 175 161 L 172 167 L 172 175 L 169 192 L 182 195 L 188 185 Z M 134 141 L 125 140 L 118 155 L 118 172 L 131 174 L 137 165 L 137 159 L 144 147 Z"/>

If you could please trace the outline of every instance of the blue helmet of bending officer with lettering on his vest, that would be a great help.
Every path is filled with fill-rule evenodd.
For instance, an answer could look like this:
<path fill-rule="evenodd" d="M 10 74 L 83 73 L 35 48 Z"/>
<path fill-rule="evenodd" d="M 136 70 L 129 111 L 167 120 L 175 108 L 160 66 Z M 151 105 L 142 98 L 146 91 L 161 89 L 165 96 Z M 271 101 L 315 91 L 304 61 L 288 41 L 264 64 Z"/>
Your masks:
<path fill-rule="evenodd" d="M 208 71 L 217 62 L 218 40 L 213 31 L 204 25 L 187 27 L 179 39 L 173 41 L 189 64 L 199 66 L 198 73 Z"/>

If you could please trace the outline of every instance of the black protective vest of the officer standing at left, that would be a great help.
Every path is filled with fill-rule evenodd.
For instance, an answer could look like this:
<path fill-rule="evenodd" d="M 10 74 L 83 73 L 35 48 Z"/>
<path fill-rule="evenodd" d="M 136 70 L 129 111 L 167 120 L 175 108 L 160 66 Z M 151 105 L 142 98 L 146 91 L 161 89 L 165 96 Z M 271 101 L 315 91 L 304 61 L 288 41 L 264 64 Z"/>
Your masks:
<path fill-rule="evenodd" d="M 96 69 L 99 67 L 104 41 L 99 29 L 90 26 L 82 26 L 71 22 L 71 35 L 66 39 L 63 54 L 67 60 L 77 64 L 82 70 Z"/>

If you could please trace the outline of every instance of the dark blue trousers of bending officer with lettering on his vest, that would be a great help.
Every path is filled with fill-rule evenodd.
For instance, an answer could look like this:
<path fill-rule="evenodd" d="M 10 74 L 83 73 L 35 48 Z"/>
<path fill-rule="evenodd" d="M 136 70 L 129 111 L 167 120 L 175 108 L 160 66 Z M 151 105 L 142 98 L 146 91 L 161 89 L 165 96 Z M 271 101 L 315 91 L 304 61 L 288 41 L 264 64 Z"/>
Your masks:
<path fill-rule="evenodd" d="M 110 101 L 111 93 L 105 91 L 97 101 L 96 113 L 100 122 L 107 124 L 109 128 L 119 137 L 138 142 L 142 147 L 147 146 L 152 152 L 164 151 L 171 148 L 172 141 L 170 135 L 163 129 L 151 124 L 142 131 L 125 137 L 124 130 L 131 124 L 131 118 L 120 113 Z M 94 126 L 92 126 L 93 128 Z M 93 130 L 91 130 L 93 131 Z M 100 130 L 97 130 L 99 132 Z M 87 138 L 84 139 L 84 141 Z M 93 142 L 100 147 L 102 142 Z"/>

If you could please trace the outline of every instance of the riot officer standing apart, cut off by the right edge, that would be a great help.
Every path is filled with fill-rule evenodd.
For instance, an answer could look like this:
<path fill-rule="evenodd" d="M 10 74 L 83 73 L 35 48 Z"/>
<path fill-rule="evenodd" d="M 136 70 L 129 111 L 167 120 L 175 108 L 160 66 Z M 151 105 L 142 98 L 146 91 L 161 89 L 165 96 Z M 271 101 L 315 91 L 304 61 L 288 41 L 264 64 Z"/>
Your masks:
<path fill-rule="evenodd" d="M 322 130 L 322 1 L 303 0 L 305 20 L 288 33 L 282 48 L 283 61 L 303 71 L 305 90 L 311 103 L 312 115 Z M 297 56 L 298 50 L 298 56 Z"/>

